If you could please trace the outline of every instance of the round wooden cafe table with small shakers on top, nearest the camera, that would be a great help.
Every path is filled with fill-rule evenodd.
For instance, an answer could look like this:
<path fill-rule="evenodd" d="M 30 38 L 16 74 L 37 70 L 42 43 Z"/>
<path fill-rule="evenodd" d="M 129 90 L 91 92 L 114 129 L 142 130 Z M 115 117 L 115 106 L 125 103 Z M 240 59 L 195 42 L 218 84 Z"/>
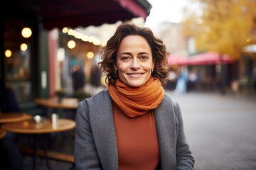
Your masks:
<path fill-rule="evenodd" d="M 68 119 L 58 119 L 58 125 L 55 126 L 53 125 L 50 119 L 46 119 L 43 123 L 36 123 L 35 120 L 25 120 L 16 123 L 7 123 L 1 125 L 1 128 L 9 132 L 33 135 L 33 169 L 36 169 L 36 156 L 38 153 L 38 135 L 72 130 L 75 128 L 75 121 Z M 48 164 L 47 155 L 46 162 Z M 50 169 L 49 164 L 48 169 Z"/>

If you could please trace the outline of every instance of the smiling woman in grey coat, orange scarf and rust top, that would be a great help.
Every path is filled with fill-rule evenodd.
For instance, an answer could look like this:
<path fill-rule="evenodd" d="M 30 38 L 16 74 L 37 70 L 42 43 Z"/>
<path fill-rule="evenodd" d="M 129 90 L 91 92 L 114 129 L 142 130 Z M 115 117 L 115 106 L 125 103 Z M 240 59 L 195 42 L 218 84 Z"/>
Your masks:
<path fill-rule="evenodd" d="M 193 169 L 180 109 L 161 86 L 170 71 L 162 41 L 126 22 L 101 56 L 108 89 L 79 103 L 76 169 Z"/>

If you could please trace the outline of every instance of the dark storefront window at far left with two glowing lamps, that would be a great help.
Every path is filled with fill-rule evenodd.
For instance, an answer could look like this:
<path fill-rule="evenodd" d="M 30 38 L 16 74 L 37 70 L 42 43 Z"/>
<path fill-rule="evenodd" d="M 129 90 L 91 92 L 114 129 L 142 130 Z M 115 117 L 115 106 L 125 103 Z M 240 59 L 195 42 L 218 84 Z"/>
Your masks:
<path fill-rule="evenodd" d="M 18 101 L 31 99 L 31 37 L 24 38 L 21 30 L 26 25 L 9 18 L 4 25 L 4 63 L 6 86 Z"/>

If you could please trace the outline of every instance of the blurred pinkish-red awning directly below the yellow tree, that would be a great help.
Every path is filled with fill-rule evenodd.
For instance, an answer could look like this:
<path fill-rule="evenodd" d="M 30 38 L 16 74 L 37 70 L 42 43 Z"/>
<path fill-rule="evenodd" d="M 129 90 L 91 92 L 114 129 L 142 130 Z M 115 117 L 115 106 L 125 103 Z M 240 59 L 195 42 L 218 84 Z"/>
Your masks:
<path fill-rule="evenodd" d="M 216 52 L 205 52 L 199 55 L 194 55 L 188 58 L 188 65 L 201 65 L 201 64 L 219 64 L 219 63 L 232 63 L 228 55 L 218 54 Z"/>

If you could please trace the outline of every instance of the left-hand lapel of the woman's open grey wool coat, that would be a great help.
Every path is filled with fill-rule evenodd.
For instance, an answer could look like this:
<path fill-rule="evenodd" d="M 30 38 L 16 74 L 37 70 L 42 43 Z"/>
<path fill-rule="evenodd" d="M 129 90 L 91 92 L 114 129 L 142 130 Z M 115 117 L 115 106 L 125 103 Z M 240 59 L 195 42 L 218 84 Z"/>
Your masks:
<path fill-rule="evenodd" d="M 117 170 L 117 139 L 114 130 L 112 101 L 107 91 L 100 92 L 90 105 L 90 121 L 97 153 L 103 169 Z M 96 103 L 101 103 L 97 106 Z"/>

